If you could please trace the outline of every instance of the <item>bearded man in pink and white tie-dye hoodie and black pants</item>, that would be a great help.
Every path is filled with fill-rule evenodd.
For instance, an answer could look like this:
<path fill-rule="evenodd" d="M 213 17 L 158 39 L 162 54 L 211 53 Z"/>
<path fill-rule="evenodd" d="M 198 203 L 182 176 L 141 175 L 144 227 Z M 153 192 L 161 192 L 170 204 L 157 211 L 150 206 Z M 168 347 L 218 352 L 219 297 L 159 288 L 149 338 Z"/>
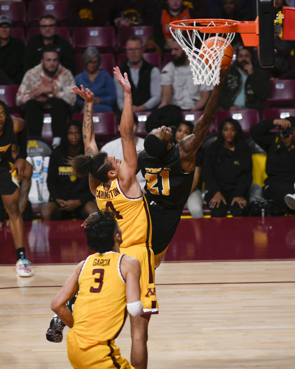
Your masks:
<path fill-rule="evenodd" d="M 53 45 L 47 45 L 42 55 L 41 63 L 25 73 L 17 91 L 16 104 L 24 106 L 28 131 L 32 136 L 41 137 L 43 114 L 51 115 L 52 145 L 56 146 L 67 121 L 68 107 L 76 101 L 72 90 L 75 81 L 70 70 L 60 65 Z"/>

